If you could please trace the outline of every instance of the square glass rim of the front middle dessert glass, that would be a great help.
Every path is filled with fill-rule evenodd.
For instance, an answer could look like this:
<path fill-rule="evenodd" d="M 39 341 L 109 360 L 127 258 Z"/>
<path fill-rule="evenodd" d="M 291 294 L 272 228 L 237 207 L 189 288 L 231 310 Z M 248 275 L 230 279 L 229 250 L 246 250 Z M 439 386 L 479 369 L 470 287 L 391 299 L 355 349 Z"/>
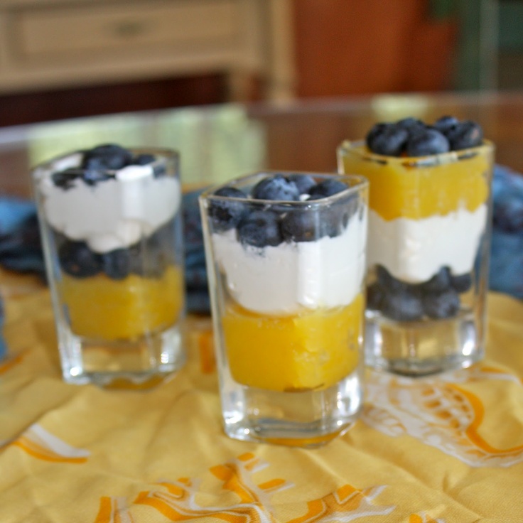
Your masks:
<path fill-rule="evenodd" d="M 249 198 L 247 195 L 247 198 L 237 198 L 234 196 L 222 196 L 222 195 L 215 195 L 215 191 L 220 190 L 221 188 L 225 187 L 233 187 L 238 188 L 238 185 L 246 180 L 257 180 L 258 178 L 262 178 L 263 176 L 270 176 L 270 175 L 276 175 L 276 174 L 282 174 L 282 175 L 291 175 L 291 174 L 303 174 L 304 176 L 312 176 L 313 178 L 333 178 L 335 180 L 351 180 L 354 181 L 352 185 L 348 186 L 346 189 L 340 191 L 339 193 L 335 193 L 330 196 L 325 196 L 325 198 L 319 198 L 318 200 L 264 200 L 262 198 Z M 224 200 L 232 200 L 232 201 L 238 201 L 243 203 L 253 203 L 253 204 L 261 204 L 261 205 L 289 205 L 294 206 L 298 205 L 300 207 L 307 207 L 311 205 L 326 205 L 328 203 L 332 203 L 335 200 L 338 200 L 343 197 L 350 196 L 352 194 L 360 193 L 361 190 L 368 188 L 369 186 L 369 180 L 365 178 L 365 176 L 361 176 L 359 174 L 345 174 L 345 173 L 322 173 L 322 172 L 313 172 L 313 171 L 277 171 L 277 170 L 264 170 L 264 171 L 256 171 L 254 173 L 249 173 L 243 176 L 239 176 L 237 178 L 233 178 L 232 180 L 228 180 L 225 183 L 220 183 L 218 185 L 212 185 L 208 188 L 206 188 L 203 193 L 200 194 L 199 198 L 200 200 L 218 200 L 218 201 L 224 201 Z"/>

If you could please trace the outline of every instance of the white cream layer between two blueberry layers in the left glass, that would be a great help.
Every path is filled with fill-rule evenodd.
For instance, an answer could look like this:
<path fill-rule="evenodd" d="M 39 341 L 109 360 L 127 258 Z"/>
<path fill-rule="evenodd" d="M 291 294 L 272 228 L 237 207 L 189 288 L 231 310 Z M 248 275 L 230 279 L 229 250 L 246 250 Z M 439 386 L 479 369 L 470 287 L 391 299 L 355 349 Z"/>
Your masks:
<path fill-rule="evenodd" d="M 94 252 L 129 247 L 165 225 L 180 207 L 180 183 L 171 176 L 153 177 L 152 166 L 126 166 L 115 178 L 87 185 L 72 180 L 64 189 L 53 183 L 57 171 L 80 165 L 81 155 L 60 158 L 38 173 L 43 210 L 50 226 Z"/>

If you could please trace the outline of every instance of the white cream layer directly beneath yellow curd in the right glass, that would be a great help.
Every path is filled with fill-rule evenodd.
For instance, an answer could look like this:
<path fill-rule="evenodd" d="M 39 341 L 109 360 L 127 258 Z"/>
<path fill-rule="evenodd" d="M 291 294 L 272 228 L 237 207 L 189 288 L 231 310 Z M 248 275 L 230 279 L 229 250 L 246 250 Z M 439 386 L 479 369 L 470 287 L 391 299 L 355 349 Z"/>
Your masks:
<path fill-rule="evenodd" d="M 473 269 L 487 224 L 487 205 L 421 220 L 384 220 L 370 210 L 367 263 L 387 268 L 394 278 L 421 283 L 448 266 L 455 275 Z"/>

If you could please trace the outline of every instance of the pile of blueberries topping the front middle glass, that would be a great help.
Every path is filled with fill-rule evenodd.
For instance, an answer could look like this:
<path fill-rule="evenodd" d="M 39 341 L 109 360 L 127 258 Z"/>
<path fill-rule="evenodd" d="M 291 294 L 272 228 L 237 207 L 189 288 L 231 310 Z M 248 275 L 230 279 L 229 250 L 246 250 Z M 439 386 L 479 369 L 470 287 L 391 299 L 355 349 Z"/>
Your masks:
<path fill-rule="evenodd" d="M 350 205 L 332 205 L 328 208 L 291 209 L 274 202 L 313 201 L 346 190 L 347 184 L 333 176 L 316 181 L 312 176 L 296 173 L 269 175 L 259 181 L 249 194 L 226 186 L 215 191 L 215 196 L 227 199 L 212 200 L 209 216 L 212 230 L 225 232 L 235 229 L 237 239 L 252 247 L 276 247 L 283 242 L 313 242 L 324 236 L 335 237 L 347 226 Z M 355 202 L 354 196 L 347 197 Z M 260 200 L 260 205 L 254 205 Z M 264 201 L 262 201 L 264 200 Z"/>

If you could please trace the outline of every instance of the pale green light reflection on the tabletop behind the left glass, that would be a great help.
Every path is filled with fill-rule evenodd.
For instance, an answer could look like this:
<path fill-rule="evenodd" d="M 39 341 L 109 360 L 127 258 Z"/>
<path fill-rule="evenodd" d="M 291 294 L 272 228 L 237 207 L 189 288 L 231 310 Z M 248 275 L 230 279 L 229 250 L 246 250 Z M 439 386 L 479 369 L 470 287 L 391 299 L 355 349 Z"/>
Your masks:
<path fill-rule="evenodd" d="M 235 104 L 117 114 L 36 125 L 28 136 L 31 165 L 64 151 L 102 143 L 168 147 L 180 152 L 184 185 L 220 183 L 264 168 L 262 124 Z"/>

